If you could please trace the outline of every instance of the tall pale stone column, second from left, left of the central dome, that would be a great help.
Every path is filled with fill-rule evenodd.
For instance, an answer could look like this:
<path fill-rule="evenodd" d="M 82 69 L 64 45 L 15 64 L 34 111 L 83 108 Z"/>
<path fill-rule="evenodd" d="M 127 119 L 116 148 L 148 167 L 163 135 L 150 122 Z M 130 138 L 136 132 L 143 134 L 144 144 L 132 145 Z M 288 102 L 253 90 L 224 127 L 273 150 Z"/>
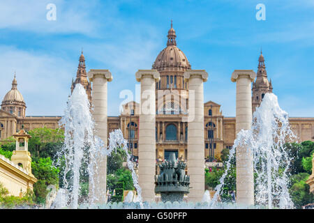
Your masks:
<path fill-rule="evenodd" d="M 140 127 L 138 150 L 138 182 L 143 201 L 155 201 L 156 175 L 156 81 L 157 70 L 138 70 L 135 74 L 141 82 Z"/>

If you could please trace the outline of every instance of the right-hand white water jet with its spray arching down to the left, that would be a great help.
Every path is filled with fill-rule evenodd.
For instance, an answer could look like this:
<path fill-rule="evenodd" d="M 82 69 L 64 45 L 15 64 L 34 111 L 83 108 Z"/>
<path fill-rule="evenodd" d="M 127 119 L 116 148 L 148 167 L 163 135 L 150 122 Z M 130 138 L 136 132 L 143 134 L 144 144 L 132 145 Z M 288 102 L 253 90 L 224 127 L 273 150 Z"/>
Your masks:
<path fill-rule="evenodd" d="M 255 177 L 255 204 L 268 208 L 293 208 L 287 185 L 289 183 L 290 157 L 285 151 L 285 141 L 296 139 L 290 129 L 287 112 L 278 105 L 277 96 L 266 93 L 262 104 L 253 114 L 251 130 L 241 130 L 230 150 L 226 171 L 215 188 L 211 207 L 217 205 L 218 194 L 224 185 L 230 162 L 236 148 L 246 147 L 253 155 Z"/>

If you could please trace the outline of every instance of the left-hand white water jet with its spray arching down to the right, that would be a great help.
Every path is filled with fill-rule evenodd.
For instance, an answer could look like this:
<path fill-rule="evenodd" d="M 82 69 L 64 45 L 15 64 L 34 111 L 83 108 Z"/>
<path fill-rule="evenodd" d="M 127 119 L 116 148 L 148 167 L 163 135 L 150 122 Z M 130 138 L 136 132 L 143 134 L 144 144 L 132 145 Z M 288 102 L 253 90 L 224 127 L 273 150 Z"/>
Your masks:
<path fill-rule="evenodd" d="M 117 148 L 122 148 L 126 152 L 127 165 L 132 171 L 133 184 L 138 194 L 138 203 L 142 208 L 142 190 L 138 185 L 133 162 L 128 153 L 128 141 L 124 139 L 121 130 L 114 130 L 114 132 L 110 132 L 109 146 L 106 147 L 100 137 L 94 136 L 94 120 L 89 107 L 89 100 L 84 87 L 77 84 L 68 99 L 65 115 L 60 122 L 65 130 L 65 142 L 63 149 L 59 151 L 59 162 L 57 164 L 60 165 L 64 162 L 65 169 L 61 180 L 63 180 L 65 188 L 59 189 L 62 193 L 58 192 L 56 201 L 61 203 L 54 203 L 54 206 L 61 208 L 61 204 L 66 203 L 70 208 L 78 208 L 80 205 L 80 176 L 87 173 L 89 179 L 94 179 L 98 171 L 103 171 L 100 169 L 100 163 L 95 162 L 95 160 L 99 160 L 99 157 L 107 157 L 113 151 L 117 152 Z M 87 168 L 82 168 L 83 166 Z M 96 183 L 97 181 L 89 183 L 90 191 L 94 190 L 93 187 Z M 66 190 L 68 192 L 65 193 Z M 94 197 L 90 197 L 89 206 L 96 206 L 97 202 L 95 201 Z"/>

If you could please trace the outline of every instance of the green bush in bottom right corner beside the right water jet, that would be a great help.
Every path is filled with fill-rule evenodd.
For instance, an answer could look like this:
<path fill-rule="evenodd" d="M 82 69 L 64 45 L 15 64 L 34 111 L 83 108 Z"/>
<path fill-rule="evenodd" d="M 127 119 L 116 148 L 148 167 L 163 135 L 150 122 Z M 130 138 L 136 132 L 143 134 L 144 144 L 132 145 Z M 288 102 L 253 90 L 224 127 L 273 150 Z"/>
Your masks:
<path fill-rule="evenodd" d="M 291 177 L 292 187 L 290 187 L 290 195 L 295 208 L 314 202 L 314 194 L 310 193 L 310 187 L 306 184 L 309 174 L 300 173 Z"/>

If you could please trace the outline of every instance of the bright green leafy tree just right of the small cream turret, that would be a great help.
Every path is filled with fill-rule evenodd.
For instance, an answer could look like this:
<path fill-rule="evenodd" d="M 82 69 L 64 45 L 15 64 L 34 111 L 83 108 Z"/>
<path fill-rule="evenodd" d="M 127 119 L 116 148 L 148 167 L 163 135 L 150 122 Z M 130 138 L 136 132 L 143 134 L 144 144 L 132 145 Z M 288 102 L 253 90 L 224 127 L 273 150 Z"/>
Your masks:
<path fill-rule="evenodd" d="M 59 169 L 52 165 L 50 157 L 34 159 L 31 162 L 33 175 L 38 181 L 33 185 L 36 203 L 44 203 L 47 196 L 47 186 L 59 185 Z"/>

